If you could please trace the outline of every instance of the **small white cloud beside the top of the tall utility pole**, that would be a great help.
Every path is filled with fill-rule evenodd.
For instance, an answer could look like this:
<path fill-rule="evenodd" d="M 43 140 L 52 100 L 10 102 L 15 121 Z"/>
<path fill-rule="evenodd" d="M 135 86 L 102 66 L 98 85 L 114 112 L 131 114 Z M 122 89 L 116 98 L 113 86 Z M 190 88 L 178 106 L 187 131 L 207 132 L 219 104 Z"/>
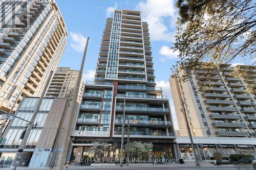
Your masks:
<path fill-rule="evenodd" d="M 84 37 L 80 33 L 70 33 L 71 43 L 70 46 L 77 52 L 83 52 L 86 46 L 87 37 Z"/>

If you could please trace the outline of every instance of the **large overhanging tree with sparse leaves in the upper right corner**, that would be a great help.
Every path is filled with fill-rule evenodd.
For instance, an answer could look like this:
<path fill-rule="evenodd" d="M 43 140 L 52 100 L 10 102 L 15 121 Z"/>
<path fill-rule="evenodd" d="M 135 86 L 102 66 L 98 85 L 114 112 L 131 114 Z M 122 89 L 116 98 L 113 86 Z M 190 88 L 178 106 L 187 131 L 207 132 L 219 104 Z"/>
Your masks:
<path fill-rule="evenodd" d="M 238 58 L 250 66 L 238 68 L 234 76 L 251 79 L 256 63 L 252 0 L 178 0 L 176 6 L 180 16 L 172 49 L 179 51 L 180 60 L 172 69 L 184 70 L 182 81 L 198 66 L 221 71 Z"/>

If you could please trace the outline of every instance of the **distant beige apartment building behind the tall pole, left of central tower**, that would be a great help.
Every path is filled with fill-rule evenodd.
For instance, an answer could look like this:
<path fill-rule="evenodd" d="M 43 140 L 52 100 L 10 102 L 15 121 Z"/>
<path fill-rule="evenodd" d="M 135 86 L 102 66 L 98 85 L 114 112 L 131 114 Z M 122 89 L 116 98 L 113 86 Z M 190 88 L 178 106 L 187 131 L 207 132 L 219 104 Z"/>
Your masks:
<path fill-rule="evenodd" d="M 58 67 L 54 72 L 46 96 L 55 98 L 71 98 L 78 81 L 79 70 L 70 67 Z M 78 94 L 78 102 L 82 99 L 84 80 L 82 79 Z"/>

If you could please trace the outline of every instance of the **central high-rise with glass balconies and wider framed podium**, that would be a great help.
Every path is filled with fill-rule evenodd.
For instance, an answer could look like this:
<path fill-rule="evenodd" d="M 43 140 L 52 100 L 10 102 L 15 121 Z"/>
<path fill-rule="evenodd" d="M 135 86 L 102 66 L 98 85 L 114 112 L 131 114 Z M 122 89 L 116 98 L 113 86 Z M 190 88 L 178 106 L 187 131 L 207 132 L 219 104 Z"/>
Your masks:
<path fill-rule="evenodd" d="M 154 156 L 175 157 L 169 101 L 156 87 L 148 25 L 140 14 L 115 10 L 106 19 L 95 81 L 85 83 L 74 124 L 70 160 L 93 157 L 93 141 L 108 141 L 105 156 L 119 158 L 123 120 L 125 126 L 130 122 L 130 141 L 153 142 Z"/>

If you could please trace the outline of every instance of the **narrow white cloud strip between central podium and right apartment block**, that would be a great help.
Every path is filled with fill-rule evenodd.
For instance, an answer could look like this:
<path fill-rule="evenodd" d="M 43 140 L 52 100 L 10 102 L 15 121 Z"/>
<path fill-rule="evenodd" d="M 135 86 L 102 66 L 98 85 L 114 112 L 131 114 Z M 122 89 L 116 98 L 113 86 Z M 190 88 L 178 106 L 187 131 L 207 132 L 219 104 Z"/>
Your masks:
<path fill-rule="evenodd" d="M 167 98 L 170 101 L 170 110 L 172 111 L 172 116 L 173 116 L 173 122 L 174 122 L 174 127 L 175 129 L 178 128 L 178 121 L 176 117 L 176 112 L 173 104 L 173 98 L 172 98 L 172 93 L 170 92 L 170 85 L 169 82 L 165 81 L 156 81 L 157 87 L 162 87 L 163 90 L 163 95 L 167 95 Z"/>

